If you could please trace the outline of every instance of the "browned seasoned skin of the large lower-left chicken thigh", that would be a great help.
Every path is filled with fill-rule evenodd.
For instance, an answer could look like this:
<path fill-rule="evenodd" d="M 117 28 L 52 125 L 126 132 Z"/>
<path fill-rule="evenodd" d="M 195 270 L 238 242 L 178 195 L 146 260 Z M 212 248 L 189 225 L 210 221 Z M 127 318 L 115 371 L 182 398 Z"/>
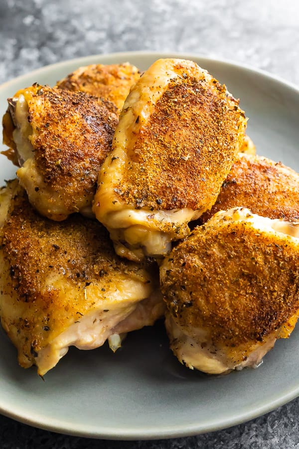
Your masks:
<path fill-rule="evenodd" d="M 36 353 L 92 310 L 99 297 L 109 303 L 103 285 L 111 283 L 114 291 L 114 279 L 129 276 L 147 282 L 141 266 L 115 254 L 100 223 L 80 215 L 59 223 L 42 218 L 21 188 L 0 231 L 0 257 L 1 294 L 11 296 L 15 316 L 4 328 L 18 348 L 22 366 L 34 363 Z M 48 276 L 54 278 L 45 288 Z M 93 284 L 98 294 L 85 295 L 85 287 Z"/>

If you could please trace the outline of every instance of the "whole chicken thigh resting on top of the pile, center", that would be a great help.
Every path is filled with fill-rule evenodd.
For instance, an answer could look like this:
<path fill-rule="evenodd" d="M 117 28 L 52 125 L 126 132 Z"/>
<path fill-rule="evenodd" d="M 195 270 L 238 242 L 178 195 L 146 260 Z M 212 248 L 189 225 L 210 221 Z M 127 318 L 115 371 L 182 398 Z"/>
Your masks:
<path fill-rule="evenodd" d="M 246 118 L 206 70 L 159 59 L 133 86 L 103 164 L 94 213 L 118 254 L 161 256 L 216 201 Z"/>

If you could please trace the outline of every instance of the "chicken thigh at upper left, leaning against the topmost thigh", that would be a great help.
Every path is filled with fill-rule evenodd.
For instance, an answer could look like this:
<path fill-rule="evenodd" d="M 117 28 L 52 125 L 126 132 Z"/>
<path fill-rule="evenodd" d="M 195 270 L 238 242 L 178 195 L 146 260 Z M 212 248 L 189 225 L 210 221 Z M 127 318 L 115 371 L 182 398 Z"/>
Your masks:
<path fill-rule="evenodd" d="M 117 116 L 82 92 L 34 84 L 8 100 L 20 184 L 45 217 L 91 213 L 100 166 L 111 150 Z M 7 121 L 7 119 L 6 119 Z"/>

